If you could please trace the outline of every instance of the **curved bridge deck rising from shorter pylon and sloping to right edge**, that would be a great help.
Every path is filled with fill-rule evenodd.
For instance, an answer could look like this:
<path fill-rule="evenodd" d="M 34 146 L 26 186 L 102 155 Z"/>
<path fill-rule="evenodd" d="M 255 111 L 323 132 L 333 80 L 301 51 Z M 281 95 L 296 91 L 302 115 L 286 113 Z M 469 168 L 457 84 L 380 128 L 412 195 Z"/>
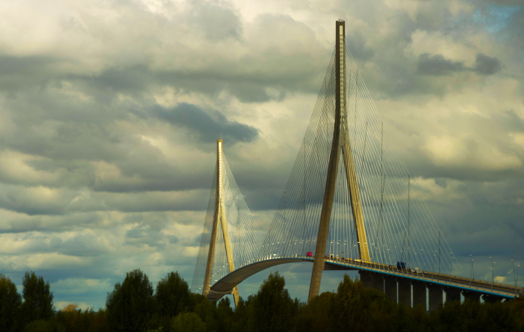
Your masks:
<path fill-rule="evenodd" d="M 311 256 L 297 256 L 297 257 L 283 257 L 273 258 L 269 260 L 259 261 L 252 264 L 245 265 L 239 269 L 231 272 L 224 276 L 221 280 L 217 281 L 210 290 L 208 295 L 209 299 L 217 301 L 225 294 L 230 294 L 233 287 L 246 280 L 248 277 L 254 275 L 257 272 L 267 269 L 268 267 L 294 263 L 294 262 L 310 262 L 313 263 Z M 324 270 L 361 270 L 369 271 L 373 273 L 379 273 L 383 275 L 390 275 L 409 280 L 417 280 L 430 284 L 442 285 L 443 287 L 459 288 L 464 291 L 473 291 L 486 295 L 492 295 L 502 298 L 514 298 L 524 294 L 524 287 L 514 285 L 508 285 L 503 283 L 492 283 L 485 280 L 470 279 L 466 277 L 449 275 L 431 271 L 420 271 L 411 272 L 406 269 L 397 269 L 396 266 L 353 261 L 351 259 L 336 259 L 330 260 L 325 259 Z M 390 267 L 391 266 L 391 267 Z"/>

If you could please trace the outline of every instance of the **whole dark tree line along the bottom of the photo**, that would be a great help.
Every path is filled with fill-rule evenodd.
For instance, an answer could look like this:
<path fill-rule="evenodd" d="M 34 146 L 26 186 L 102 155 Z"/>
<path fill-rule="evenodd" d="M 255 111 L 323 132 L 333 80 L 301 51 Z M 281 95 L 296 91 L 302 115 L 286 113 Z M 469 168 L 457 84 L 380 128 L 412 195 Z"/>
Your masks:
<path fill-rule="evenodd" d="M 524 299 L 483 303 L 466 299 L 445 303 L 427 313 L 389 301 L 374 288 L 344 275 L 336 292 L 325 292 L 309 304 L 292 299 L 286 281 L 271 273 L 256 294 L 210 302 L 191 293 L 178 272 L 156 288 L 141 270 L 126 274 L 107 294 L 105 308 L 76 305 L 56 311 L 49 282 L 26 272 L 23 291 L 0 274 L 0 331 L 6 332 L 314 332 L 314 331 L 511 331 L 524 332 Z"/>

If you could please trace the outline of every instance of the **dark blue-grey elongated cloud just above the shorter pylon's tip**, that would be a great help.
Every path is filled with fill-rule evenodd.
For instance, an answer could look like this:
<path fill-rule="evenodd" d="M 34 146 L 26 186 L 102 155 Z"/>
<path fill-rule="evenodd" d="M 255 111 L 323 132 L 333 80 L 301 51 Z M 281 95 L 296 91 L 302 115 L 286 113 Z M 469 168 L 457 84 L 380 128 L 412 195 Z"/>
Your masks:
<path fill-rule="evenodd" d="M 228 120 L 216 110 L 204 112 L 193 104 L 180 103 L 171 109 L 157 105 L 154 110 L 159 119 L 188 129 L 191 136 L 196 136 L 202 142 L 211 143 L 217 137 L 222 137 L 234 144 L 252 142 L 258 137 L 255 127 Z"/>

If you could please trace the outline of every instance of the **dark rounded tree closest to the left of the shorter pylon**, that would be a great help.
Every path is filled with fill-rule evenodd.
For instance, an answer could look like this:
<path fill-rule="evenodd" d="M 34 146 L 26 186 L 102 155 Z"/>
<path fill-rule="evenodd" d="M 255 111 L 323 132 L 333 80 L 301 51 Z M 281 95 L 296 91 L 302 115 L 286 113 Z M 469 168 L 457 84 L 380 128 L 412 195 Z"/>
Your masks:
<path fill-rule="evenodd" d="M 190 305 L 190 291 L 178 272 L 170 272 L 157 284 L 155 297 L 160 316 L 176 317 Z"/>

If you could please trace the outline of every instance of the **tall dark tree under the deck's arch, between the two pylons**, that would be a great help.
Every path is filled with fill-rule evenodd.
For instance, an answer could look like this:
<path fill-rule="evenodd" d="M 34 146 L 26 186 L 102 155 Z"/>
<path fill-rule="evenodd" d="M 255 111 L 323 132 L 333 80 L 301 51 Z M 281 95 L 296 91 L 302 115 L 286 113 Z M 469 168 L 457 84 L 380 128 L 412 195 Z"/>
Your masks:
<path fill-rule="evenodd" d="M 298 300 L 291 299 L 285 286 L 286 281 L 278 272 L 270 273 L 264 280 L 253 301 L 255 331 L 280 332 L 292 329 Z"/>

